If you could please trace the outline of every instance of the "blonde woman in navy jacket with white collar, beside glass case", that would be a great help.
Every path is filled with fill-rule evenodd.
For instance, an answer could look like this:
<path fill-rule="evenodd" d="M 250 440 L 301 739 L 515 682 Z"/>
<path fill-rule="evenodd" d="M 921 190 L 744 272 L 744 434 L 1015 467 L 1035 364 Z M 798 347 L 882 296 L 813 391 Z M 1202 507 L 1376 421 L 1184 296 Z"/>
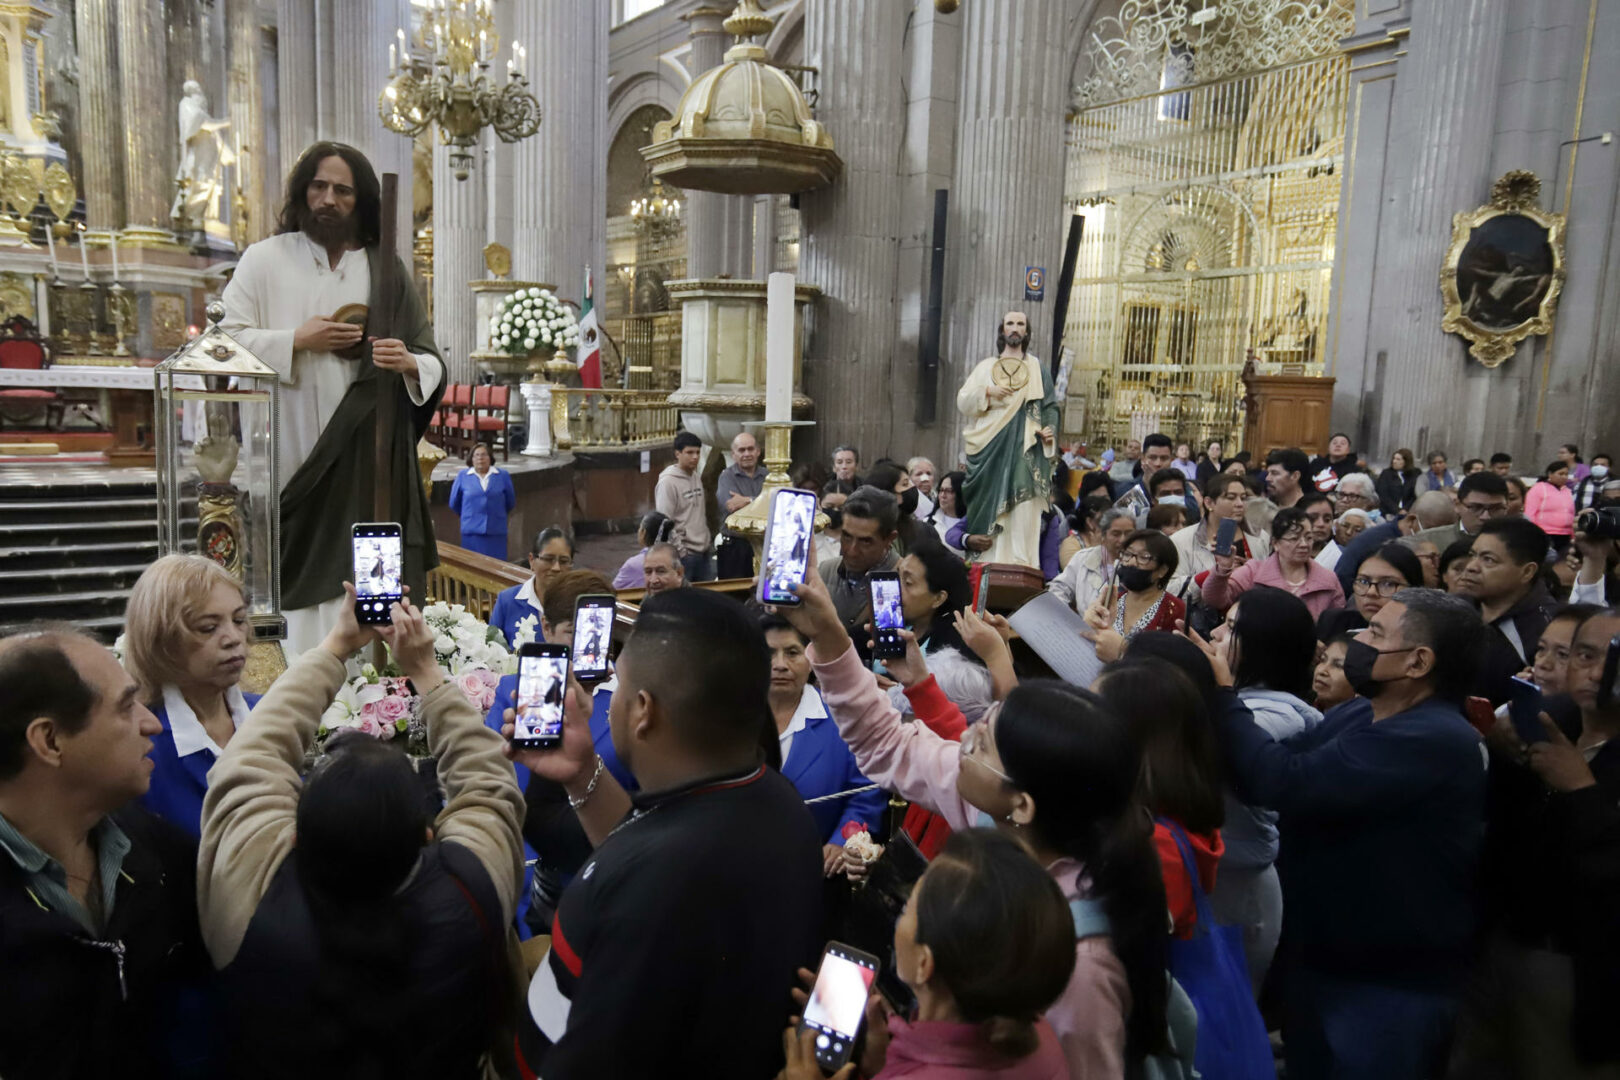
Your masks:
<path fill-rule="evenodd" d="M 207 774 L 258 696 L 237 683 L 248 662 L 241 585 L 201 555 L 164 555 L 136 580 L 123 665 L 164 730 L 141 803 L 198 836 Z"/>

